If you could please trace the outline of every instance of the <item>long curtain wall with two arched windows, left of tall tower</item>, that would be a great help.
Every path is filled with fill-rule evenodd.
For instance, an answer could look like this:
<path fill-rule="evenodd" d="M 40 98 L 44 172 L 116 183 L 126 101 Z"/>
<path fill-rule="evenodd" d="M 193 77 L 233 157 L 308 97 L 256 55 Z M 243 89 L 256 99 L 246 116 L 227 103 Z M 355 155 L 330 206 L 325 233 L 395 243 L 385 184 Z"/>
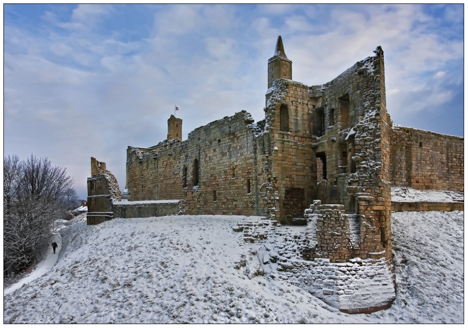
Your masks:
<path fill-rule="evenodd" d="M 252 123 L 241 111 L 195 129 L 183 142 L 129 147 L 129 200 L 184 199 L 187 214 L 268 215 L 262 185 L 269 139 Z"/>

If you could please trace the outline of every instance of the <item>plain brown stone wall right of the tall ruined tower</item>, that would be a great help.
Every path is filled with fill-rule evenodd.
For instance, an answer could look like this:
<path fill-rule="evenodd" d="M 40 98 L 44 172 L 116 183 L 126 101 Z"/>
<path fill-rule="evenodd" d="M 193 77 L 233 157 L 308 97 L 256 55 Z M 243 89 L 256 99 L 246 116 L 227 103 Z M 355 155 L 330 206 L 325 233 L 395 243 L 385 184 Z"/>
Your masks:
<path fill-rule="evenodd" d="M 464 190 L 464 139 L 392 127 L 391 180 L 414 189 Z"/>

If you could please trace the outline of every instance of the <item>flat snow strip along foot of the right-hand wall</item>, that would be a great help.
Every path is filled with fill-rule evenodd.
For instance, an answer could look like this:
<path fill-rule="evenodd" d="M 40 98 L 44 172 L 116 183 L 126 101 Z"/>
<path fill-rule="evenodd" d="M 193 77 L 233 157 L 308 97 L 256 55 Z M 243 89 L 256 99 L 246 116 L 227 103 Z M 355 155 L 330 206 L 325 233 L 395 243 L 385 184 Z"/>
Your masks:
<path fill-rule="evenodd" d="M 392 186 L 392 202 L 463 202 L 462 191 L 417 190 L 409 187 Z"/>

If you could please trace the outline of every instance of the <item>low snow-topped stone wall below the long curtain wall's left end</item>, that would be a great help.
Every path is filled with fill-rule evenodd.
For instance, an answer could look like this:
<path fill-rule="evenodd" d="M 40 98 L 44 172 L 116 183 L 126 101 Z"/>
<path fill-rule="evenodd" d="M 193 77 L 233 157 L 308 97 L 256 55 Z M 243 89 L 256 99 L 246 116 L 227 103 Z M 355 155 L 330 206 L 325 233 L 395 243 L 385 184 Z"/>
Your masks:
<path fill-rule="evenodd" d="M 150 218 L 178 215 L 183 212 L 182 201 L 121 201 L 112 204 L 114 218 Z"/>

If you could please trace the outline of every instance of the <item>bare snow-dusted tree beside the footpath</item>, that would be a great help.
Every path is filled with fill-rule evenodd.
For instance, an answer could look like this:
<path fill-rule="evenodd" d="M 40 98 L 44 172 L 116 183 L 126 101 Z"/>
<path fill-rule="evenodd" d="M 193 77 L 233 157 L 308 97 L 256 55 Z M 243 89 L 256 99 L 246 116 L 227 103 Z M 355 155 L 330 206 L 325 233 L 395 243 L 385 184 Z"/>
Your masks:
<path fill-rule="evenodd" d="M 54 222 L 64 216 L 76 193 L 67 169 L 52 166 L 47 158 L 31 155 L 19 162 L 18 156 L 8 156 L 3 167 L 8 205 L 3 218 L 3 272 L 8 274 L 34 262 L 37 245 L 50 238 Z"/>

